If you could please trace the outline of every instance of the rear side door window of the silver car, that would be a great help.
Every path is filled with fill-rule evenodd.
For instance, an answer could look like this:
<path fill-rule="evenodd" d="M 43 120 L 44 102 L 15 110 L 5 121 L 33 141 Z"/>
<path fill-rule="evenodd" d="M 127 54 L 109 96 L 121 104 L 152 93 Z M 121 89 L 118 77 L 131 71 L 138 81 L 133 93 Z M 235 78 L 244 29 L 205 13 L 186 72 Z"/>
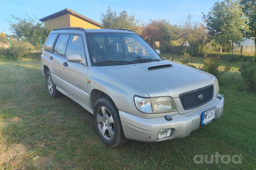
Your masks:
<path fill-rule="evenodd" d="M 53 53 L 65 57 L 68 38 L 69 34 L 60 34 L 55 43 Z"/>

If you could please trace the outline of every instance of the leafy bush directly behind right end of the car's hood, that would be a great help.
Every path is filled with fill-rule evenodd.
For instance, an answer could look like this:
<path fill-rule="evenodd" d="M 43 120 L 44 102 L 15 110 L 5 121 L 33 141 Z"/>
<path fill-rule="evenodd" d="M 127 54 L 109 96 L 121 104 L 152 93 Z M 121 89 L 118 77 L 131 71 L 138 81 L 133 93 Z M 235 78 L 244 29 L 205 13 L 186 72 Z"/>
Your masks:
<path fill-rule="evenodd" d="M 220 69 L 220 56 L 213 57 L 205 54 L 202 67 L 203 71 L 209 72 L 219 79 L 225 72 L 229 72 L 230 69 L 230 66 L 225 66 L 223 69 Z"/>

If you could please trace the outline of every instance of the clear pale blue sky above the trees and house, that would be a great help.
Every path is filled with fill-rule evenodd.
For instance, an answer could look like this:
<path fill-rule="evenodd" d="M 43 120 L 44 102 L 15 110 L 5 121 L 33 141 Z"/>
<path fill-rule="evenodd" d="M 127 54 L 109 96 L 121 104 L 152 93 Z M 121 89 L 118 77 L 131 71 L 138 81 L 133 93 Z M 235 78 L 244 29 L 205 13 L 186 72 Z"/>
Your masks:
<path fill-rule="evenodd" d="M 134 12 L 137 19 L 149 22 L 150 19 L 166 19 L 171 24 L 180 24 L 184 16 L 191 13 L 194 21 L 202 21 L 202 12 L 207 13 L 216 0 L 1 0 L 0 32 L 10 34 L 9 22 L 19 18 L 36 16 L 37 19 L 59 10 L 69 8 L 100 22 L 100 14 L 110 6 L 117 12 L 123 9 Z"/>

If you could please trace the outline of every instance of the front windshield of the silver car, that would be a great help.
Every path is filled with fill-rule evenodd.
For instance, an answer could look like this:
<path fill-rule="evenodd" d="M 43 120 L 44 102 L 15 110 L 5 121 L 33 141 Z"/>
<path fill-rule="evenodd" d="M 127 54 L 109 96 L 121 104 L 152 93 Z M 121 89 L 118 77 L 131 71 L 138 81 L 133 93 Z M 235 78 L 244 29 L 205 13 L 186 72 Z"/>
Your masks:
<path fill-rule="evenodd" d="M 158 54 L 137 34 L 87 33 L 92 65 L 123 65 L 161 61 Z"/>

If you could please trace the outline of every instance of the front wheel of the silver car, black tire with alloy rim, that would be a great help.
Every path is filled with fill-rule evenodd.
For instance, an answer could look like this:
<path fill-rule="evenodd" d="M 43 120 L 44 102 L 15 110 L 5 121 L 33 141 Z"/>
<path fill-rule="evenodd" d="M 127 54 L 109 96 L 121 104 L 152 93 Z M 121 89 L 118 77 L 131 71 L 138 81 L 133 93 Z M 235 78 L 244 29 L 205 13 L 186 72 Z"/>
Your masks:
<path fill-rule="evenodd" d="M 93 108 L 93 120 L 96 132 L 107 146 L 117 147 L 128 140 L 123 134 L 118 109 L 109 97 L 96 101 Z"/>

